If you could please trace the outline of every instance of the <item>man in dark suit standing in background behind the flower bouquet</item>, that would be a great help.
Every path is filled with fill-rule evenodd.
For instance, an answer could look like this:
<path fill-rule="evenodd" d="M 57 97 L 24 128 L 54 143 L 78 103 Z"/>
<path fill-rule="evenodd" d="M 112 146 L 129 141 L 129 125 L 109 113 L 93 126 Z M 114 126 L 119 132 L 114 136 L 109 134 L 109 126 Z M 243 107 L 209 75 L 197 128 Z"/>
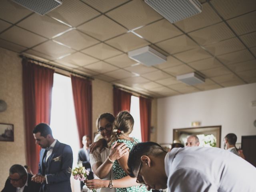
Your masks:
<path fill-rule="evenodd" d="M 90 172 L 88 175 L 88 179 L 93 179 L 93 172 L 90 164 L 90 144 L 92 143 L 90 137 L 88 135 L 83 136 L 82 143 L 84 145 L 83 148 L 80 148 L 78 152 L 78 161 L 82 161 L 83 166 Z M 81 190 L 84 186 L 84 183 L 81 182 Z"/>

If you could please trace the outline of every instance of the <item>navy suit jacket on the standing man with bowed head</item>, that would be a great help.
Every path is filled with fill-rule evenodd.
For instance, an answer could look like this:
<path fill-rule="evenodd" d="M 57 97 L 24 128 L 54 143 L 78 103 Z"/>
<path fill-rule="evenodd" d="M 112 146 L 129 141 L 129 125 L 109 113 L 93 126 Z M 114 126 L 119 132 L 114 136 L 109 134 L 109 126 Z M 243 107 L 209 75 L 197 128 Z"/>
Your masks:
<path fill-rule="evenodd" d="M 73 153 L 69 145 L 60 143 L 58 140 L 52 150 L 52 154 L 47 160 L 47 168 L 43 170 L 43 158 L 47 151 L 41 149 L 38 174 L 46 173 L 46 181 L 43 185 L 50 192 L 71 192 L 69 168 L 72 168 Z M 43 175 L 43 174 L 42 174 Z M 41 189 L 42 191 L 42 189 Z"/>

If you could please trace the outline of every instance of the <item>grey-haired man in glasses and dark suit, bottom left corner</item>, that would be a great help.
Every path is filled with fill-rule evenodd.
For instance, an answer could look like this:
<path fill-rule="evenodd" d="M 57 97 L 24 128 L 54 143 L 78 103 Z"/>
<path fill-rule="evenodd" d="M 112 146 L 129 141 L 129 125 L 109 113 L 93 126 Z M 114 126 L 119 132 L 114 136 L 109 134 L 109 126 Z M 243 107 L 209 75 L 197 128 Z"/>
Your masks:
<path fill-rule="evenodd" d="M 9 177 L 5 182 L 2 192 L 39 192 L 41 184 L 31 181 L 29 174 L 22 165 L 11 166 Z"/>

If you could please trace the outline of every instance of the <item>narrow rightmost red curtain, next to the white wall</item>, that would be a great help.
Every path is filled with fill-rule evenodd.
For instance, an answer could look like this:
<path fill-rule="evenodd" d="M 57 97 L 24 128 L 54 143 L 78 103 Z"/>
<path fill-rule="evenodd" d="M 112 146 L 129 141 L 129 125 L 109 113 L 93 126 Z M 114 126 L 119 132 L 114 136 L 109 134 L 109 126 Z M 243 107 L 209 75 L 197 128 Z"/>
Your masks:
<path fill-rule="evenodd" d="M 142 142 L 150 140 L 151 99 L 140 97 L 140 130 Z"/>

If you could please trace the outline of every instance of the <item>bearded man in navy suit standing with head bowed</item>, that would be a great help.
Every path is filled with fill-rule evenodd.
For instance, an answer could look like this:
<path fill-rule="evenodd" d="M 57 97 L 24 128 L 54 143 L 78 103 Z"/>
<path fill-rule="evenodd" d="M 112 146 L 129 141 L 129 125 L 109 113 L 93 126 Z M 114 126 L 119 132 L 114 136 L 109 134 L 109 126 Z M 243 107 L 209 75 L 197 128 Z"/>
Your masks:
<path fill-rule="evenodd" d="M 71 192 L 71 173 L 68 172 L 73 163 L 71 147 L 54 139 L 50 126 L 45 123 L 35 126 L 33 135 L 42 149 L 38 174 L 32 181 L 42 183 L 41 192 Z"/>

